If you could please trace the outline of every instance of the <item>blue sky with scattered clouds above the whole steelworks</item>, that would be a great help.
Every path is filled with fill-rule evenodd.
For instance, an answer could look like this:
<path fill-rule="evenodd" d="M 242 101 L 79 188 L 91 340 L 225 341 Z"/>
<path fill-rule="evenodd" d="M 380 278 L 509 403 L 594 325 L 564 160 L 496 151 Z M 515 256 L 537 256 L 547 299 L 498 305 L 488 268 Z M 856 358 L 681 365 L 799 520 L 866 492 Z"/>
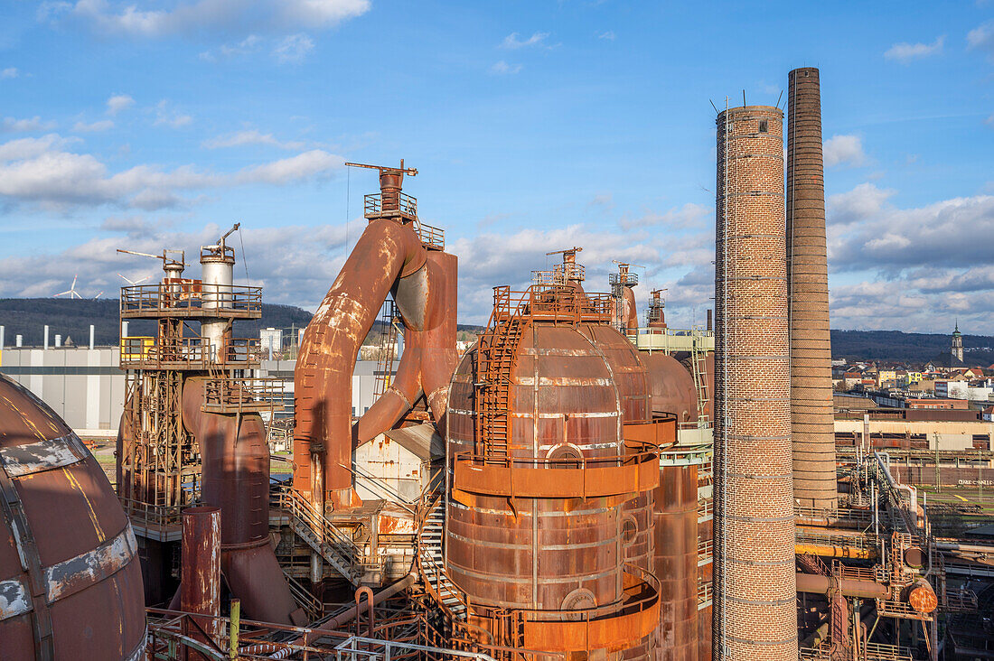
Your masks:
<path fill-rule="evenodd" d="M 114 248 L 238 221 L 266 300 L 313 309 L 376 187 L 343 163 L 404 157 L 461 321 L 582 246 L 588 289 L 632 261 L 700 322 L 710 101 L 816 66 L 833 327 L 994 333 L 994 0 L 869 4 L 4 0 L 0 295 L 110 291 L 154 270 Z"/>

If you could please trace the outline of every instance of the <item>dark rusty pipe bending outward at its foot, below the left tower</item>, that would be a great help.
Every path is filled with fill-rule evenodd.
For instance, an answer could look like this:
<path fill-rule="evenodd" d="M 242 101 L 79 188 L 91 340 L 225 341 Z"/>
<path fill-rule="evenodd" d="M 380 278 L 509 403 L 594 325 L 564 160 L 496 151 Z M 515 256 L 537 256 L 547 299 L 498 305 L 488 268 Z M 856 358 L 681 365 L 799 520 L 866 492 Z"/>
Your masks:
<path fill-rule="evenodd" d="M 204 384 L 183 384 L 183 424 L 200 447 L 201 502 L 221 508 L 221 570 L 246 614 L 303 624 L 269 544 L 269 447 L 258 413 L 205 413 Z"/>

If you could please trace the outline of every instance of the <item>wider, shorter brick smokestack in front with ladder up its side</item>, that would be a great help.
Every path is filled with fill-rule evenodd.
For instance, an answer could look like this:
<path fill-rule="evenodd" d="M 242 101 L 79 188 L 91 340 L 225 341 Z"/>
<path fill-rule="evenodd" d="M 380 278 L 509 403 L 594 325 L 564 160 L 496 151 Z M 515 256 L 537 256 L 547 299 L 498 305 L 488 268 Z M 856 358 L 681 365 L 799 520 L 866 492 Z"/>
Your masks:
<path fill-rule="evenodd" d="M 715 661 L 797 659 L 783 113 L 718 115 Z"/>

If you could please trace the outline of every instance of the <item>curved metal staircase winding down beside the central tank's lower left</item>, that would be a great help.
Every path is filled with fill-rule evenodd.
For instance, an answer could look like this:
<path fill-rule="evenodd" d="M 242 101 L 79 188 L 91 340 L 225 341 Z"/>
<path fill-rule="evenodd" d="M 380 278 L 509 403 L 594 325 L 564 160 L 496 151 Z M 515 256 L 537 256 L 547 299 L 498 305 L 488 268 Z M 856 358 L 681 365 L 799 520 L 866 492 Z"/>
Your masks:
<path fill-rule="evenodd" d="M 424 490 L 417 526 L 417 569 L 424 587 L 451 621 L 465 621 L 467 604 L 462 590 L 445 573 L 442 540 L 445 536 L 445 497 L 436 487 L 439 473 Z"/>

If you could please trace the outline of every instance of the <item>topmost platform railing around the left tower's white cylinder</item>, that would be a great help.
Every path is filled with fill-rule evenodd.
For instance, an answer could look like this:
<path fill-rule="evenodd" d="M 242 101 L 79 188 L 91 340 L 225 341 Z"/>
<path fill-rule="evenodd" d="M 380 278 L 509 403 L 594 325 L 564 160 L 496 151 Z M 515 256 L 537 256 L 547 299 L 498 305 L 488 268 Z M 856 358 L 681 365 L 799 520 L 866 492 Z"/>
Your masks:
<path fill-rule="evenodd" d="M 262 287 L 180 280 L 121 287 L 122 317 L 261 316 Z"/>

